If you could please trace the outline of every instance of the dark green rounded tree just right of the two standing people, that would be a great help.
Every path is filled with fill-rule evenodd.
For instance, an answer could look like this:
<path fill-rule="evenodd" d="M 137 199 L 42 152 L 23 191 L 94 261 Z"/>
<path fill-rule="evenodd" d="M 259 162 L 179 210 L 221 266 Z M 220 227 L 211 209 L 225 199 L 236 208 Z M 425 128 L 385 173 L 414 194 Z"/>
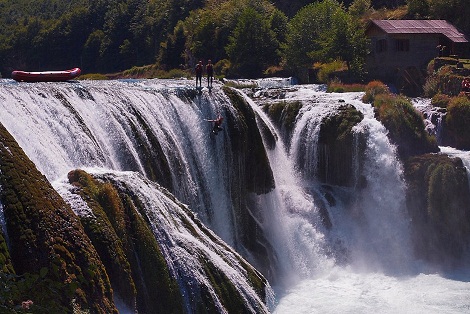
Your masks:
<path fill-rule="evenodd" d="M 227 55 L 232 74 L 255 78 L 277 59 L 278 42 L 269 23 L 255 9 L 247 7 L 229 37 Z"/>

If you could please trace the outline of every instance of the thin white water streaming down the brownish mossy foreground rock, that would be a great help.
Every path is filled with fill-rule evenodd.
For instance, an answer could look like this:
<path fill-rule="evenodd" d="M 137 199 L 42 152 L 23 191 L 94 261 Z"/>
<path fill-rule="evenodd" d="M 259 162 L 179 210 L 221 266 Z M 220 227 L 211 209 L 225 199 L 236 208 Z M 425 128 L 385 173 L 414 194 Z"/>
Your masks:
<path fill-rule="evenodd" d="M 145 209 L 145 215 L 165 256 L 168 268 L 183 290 L 182 296 L 188 313 L 197 308 L 194 300 L 197 298 L 194 296 L 203 289 L 207 289 L 211 294 L 218 312 L 226 313 L 217 292 L 205 274 L 206 260 L 214 263 L 217 269 L 231 280 L 240 295 L 250 301 L 246 304 L 252 313 L 268 312 L 263 300 L 249 284 L 247 272 L 240 262 L 243 258 L 227 249 L 225 243 L 212 231 L 196 224 L 188 215 L 189 210 L 184 210 L 186 206 L 175 203 L 166 190 L 136 172 L 110 172 L 91 168 L 87 168 L 86 171 L 98 178 L 111 180 L 114 185 L 128 187 L 132 193 L 135 193 Z M 73 188 L 67 178 L 56 181 L 55 186 L 77 214 L 88 214 L 88 211 L 84 210 L 88 206 L 71 192 Z M 126 311 L 129 310 L 124 308 L 121 313 Z"/>

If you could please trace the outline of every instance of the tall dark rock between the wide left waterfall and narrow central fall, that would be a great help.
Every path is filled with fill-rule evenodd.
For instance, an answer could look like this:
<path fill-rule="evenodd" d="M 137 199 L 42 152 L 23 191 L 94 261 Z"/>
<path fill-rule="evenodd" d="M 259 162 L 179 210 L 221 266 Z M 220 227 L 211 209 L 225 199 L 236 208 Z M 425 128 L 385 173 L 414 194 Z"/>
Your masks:
<path fill-rule="evenodd" d="M 266 274 L 272 271 L 270 267 L 275 267 L 273 265 L 276 264 L 276 258 L 273 256 L 274 250 L 263 234 L 262 227 L 257 222 L 257 219 L 261 219 L 259 213 L 250 210 L 250 207 L 256 208 L 256 206 L 250 204 L 249 193 L 262 194 L 271 191 L 275 184 L 274 176 L 253 109 L 236 90 L 229 87 L 224 87 L 223 90 L 239 114 L 236 119 L 228 117 L 232 151 L 236 156 L 232 164 L 241 180 L 238 181 L 238 178 L 230 180 L 235 225 L 238 228 L 241 244 L 257 260 L 255 266 Z M 269 128 L 262 127 L 261 131 L 263 130 L 268 146 L 276 145 L 277 139 Z"/>

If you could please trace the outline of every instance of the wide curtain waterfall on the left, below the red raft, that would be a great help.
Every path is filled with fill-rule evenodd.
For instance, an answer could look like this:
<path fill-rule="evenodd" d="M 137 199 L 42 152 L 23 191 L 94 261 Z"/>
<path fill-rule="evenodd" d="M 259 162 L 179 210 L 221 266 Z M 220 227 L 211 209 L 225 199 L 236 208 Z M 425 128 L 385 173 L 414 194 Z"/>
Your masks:
<path fill-rule="evenodd" d="M 222 153 L 230 138 L 211 136 L 204 120 L 217 112 L 236 116 L 220 88 L 197 97 L 187 80 L 5 80 L 0 88 L 1 122 L 49 181 L 83 167 L 155 177 L 145 163 L 165 158 L 154 167 L 163 174 L 155 179 L 168 182 L 179 200 L 234 245 L 230 155 Z"/>

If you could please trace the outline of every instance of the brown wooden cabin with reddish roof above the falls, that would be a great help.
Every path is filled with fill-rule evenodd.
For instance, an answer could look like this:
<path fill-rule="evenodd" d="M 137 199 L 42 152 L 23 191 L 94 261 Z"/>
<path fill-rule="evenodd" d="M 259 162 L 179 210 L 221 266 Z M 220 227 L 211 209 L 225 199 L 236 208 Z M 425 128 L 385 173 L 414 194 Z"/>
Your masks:
<path fill-rule="evenodd" d="M 462 56 L 469 43 L 445 20 L 371 20 L 366 35 L 371 42 L 366 59 L 369 76 L 408 88 L 422 86 L 429 61 Z"/>

